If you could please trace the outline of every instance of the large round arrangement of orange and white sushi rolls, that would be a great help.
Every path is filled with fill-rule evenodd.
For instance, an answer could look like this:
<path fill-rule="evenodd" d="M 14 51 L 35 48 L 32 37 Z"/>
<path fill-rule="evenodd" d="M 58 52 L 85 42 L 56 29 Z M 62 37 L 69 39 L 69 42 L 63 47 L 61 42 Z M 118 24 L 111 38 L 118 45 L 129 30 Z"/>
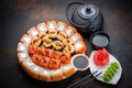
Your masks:
<path fill-rule="evenodd" d="M 47 21 L 31 28 L 20 38 L 18 58 L 21 67 L 33 78 L 44 81 L 65 79 L 78 69 L 73 57 L 85 56 L 82 36 L 65 22 Z"/>

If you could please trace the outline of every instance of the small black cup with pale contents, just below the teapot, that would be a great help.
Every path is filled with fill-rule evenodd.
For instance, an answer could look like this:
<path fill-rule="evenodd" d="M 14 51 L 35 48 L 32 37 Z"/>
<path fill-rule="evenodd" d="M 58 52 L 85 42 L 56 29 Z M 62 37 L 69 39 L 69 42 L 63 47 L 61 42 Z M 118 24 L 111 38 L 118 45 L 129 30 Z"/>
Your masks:
<path fill-rule="evenodd" d="M 109 35 L 102 31 L 95 32 L 90 36 L 90 42 L 95 50 L 106 48 L 109 45 Z"/>

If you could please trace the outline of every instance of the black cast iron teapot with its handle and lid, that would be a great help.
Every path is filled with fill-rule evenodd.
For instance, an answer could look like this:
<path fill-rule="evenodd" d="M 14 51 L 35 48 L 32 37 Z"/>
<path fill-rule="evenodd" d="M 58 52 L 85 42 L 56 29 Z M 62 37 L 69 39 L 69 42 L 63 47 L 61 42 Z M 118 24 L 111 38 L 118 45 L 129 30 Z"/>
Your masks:
<path fill-rule="evenodd" d="M 74 10 L 70 18 L 69 9 L 74 4 L 80 4 L 80 7 Z M 103 15 L 101 11 L 94 4 L 85 4 L 80 2 L 69 3 L 66 8 L 66 18 L 78 29 L 79 32 L 100 31 L 103 24 Z"/>

